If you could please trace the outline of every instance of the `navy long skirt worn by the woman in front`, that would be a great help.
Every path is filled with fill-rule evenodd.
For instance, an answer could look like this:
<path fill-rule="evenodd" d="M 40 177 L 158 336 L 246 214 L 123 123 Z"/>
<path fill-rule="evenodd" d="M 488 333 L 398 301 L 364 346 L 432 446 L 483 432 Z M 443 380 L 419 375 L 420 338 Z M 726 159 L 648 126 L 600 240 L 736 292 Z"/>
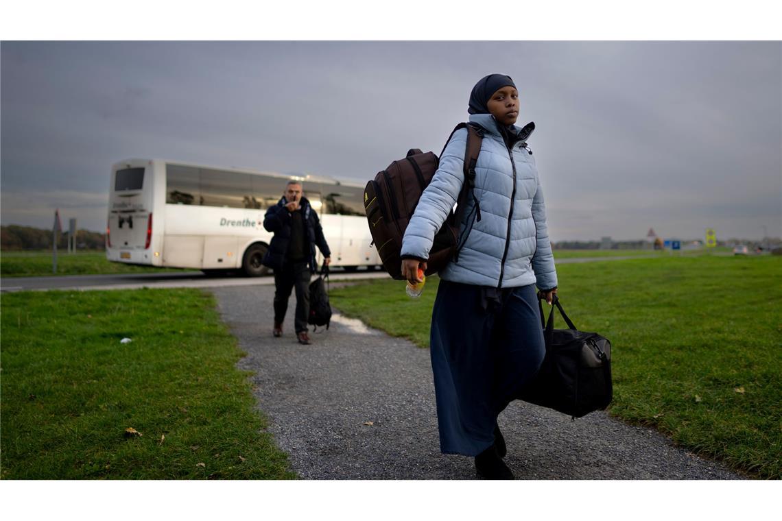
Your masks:
<path fill-rule="evenodd" d="M 440 280 L 437 290 L 430 351 L 444 454 L 489 448 L 497 415 L 545 355 L 535 285 L 504 290 L 487 303 L 491 289 Z"/>

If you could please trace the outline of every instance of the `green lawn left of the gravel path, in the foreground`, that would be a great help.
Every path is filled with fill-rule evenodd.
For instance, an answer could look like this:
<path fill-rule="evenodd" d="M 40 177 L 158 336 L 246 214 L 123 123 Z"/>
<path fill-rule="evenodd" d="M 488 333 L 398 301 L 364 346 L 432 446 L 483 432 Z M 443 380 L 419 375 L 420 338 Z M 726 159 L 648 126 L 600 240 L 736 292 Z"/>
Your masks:
<path fill-rule="evenodd" d="M 211 295 L 48 291 L 0 302 L 3 479 L 295 477 Z"/>

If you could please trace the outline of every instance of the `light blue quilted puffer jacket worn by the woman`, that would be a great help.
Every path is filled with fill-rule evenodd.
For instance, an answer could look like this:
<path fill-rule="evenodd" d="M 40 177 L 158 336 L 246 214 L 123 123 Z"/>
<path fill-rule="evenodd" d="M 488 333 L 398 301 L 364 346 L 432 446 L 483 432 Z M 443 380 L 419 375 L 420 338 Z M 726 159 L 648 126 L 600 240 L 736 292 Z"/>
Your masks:
<path fill-rule="evenodd" d="M 541 290 L 556 287 L 557 271 L 546 227 L 543 191 L 535 159 L 522 148 L 529 135 L 514 145 L 511 160 L 511 152 L 508 152 L 493 116 L 473 114 L 470 121 L 485 130 L 475 166 L 475 197 L 479 201 L 481 220 L 475 219 L 475 203 L 468 198 L 461 232 L 464 233 L 471 223 L 472 230 L 458 260 L 451 261 L 439 276 L 479 286 L 536 284 Z M 515 131 L 519 130 L 515 127 Z M 466 142 L 467 130 L 457 130 L 443 151 L 439 168 L 421 194 L 405 230 L 403 257 L 429 258 L 432 239 L 456 203 L 464 183 Z"/>

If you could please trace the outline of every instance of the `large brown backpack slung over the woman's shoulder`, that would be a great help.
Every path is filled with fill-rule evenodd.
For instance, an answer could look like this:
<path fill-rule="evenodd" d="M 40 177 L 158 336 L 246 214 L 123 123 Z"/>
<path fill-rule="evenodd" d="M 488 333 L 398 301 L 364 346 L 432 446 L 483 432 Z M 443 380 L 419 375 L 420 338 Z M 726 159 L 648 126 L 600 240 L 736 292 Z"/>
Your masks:
<path fill-rule="evenodd" d="M 478 162 L 478 154 L 481 151 L 483 133 L 477 125 L 459 123 L 451 132 L 448 141 L 461 128 L 467 129 L 465 183 L 457 199 L 456 212 L 450 212 L 443 227 L 434 237 L 427 259 L 427 275 L 437 273 L 452 259 L 458 260 L 461 245 L 465 244 L 467 239 L 466 236 L 458 237 L 458 234 L 468 196 L 472 196 L 475 201 L 476 219 L 481 219 L 481 210 L 473 189 L 475 163 Z M 439 158 L 433 152 L 423 153 L 418 148 L 411 148 L 407 157 L 392 162 L 386 170 L 378 172 L 375 179 L 369 181 L 364 188 L 364 211 L 367 213 L 369 231 L 372 234 L 371 244 L 378 248 L 383 268 L 396 280 L 403 279 L 400 252 L 404 230 L 407 229 L 418 199 L 432 181 L 438 165 Z"/>

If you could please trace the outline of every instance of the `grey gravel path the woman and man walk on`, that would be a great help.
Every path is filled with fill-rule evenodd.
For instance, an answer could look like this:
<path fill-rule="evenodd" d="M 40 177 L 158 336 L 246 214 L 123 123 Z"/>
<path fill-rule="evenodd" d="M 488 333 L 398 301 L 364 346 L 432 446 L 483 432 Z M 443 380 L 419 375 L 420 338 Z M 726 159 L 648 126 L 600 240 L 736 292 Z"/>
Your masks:
<path fill-rule="evenodd" d="M 309 480 L 465 480 L 472 458 L 439 452 L 429 350 L 334 316 L 328 331 L 300 345 L 291 297 L 285 334 L 271 335 L 274 287 L 212 288 L 223 319 L 255 373 L 259 408 Z M 741 479 L 668 438 L 604 412 L 572 422 L 515 401 L 500 415 L 505 461 L 526 480 Z"/>

